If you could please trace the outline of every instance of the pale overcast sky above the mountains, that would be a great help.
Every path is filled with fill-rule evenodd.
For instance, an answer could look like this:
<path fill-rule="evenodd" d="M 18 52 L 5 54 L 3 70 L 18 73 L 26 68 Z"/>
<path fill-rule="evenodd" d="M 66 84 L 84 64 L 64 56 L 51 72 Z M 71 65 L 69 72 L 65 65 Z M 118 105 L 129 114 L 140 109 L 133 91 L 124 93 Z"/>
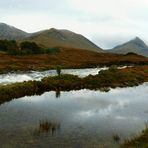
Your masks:
<path fill-rule="evenodd" d="M 0 22 L 27 32 L 68 29 L 102 48 L 148 43 L 148 0 L 0 0 Z"/>

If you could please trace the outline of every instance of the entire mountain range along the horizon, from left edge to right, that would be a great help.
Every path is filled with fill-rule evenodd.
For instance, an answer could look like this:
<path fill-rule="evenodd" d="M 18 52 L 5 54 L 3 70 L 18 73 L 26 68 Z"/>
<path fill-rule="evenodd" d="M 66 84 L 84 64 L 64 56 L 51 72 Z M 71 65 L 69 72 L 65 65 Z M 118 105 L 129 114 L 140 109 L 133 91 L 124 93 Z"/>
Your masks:
<path fill-rule="evenodd" d="M 64 47 L 116 54 L 133 52 L 148 56 L 148 46 L 139 37 L 135 37 L 110 50 L 103 50 L 83 35 L 66 29 L 50 28 L 35 33 L 27 33 L 5 23 L 0 23 L 0 39 L 36 42 L 45 48 Z"/>

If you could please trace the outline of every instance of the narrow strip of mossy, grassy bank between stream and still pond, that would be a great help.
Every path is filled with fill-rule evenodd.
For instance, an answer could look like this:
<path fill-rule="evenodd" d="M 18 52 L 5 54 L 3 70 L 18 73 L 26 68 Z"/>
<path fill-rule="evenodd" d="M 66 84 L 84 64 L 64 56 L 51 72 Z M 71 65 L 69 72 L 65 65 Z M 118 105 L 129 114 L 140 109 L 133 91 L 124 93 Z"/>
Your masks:
<path fill-rule="evenodd" d="M 137 86 L 148 81 L 148 66 L 117 69 L 111 67 L 99 74 L 79 78 L 74 75 L 60 75 L 43 78 L 41 81 L 28 81 L 0 86 L 0 103 L 13 98 L 42 94 L 45 91 L 69 91 L 80 89 L 102 89 L 108 87 Z"/>

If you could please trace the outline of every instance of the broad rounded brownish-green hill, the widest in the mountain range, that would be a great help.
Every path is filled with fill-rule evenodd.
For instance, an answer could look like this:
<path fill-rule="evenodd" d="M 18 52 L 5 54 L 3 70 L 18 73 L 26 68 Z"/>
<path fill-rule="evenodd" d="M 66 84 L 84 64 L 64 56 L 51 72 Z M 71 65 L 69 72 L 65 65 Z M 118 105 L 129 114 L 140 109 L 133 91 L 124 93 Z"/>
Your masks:
<path fill-rule="evenodd" d="M 51 28 L 49 30 L 33 33 L 30 37 L 24 39 L 33 41 L 44 47 L 66 47 L 86 49 L 96 52 L 103 52 L 101 48 L 80 34 L 69 30 L 58 30 Z"/>

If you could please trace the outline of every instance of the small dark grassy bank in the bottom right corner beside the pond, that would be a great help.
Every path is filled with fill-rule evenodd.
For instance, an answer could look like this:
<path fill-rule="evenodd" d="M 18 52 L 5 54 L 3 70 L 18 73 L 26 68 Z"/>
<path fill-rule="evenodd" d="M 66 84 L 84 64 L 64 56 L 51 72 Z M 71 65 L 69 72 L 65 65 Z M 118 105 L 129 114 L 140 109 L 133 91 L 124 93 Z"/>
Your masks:
<path fill-rule="evenodd" d="M 121 148 L 147 148 L 148 147 L 148 127 L 142 133 L 131 139 L 125 141 Z"/>

